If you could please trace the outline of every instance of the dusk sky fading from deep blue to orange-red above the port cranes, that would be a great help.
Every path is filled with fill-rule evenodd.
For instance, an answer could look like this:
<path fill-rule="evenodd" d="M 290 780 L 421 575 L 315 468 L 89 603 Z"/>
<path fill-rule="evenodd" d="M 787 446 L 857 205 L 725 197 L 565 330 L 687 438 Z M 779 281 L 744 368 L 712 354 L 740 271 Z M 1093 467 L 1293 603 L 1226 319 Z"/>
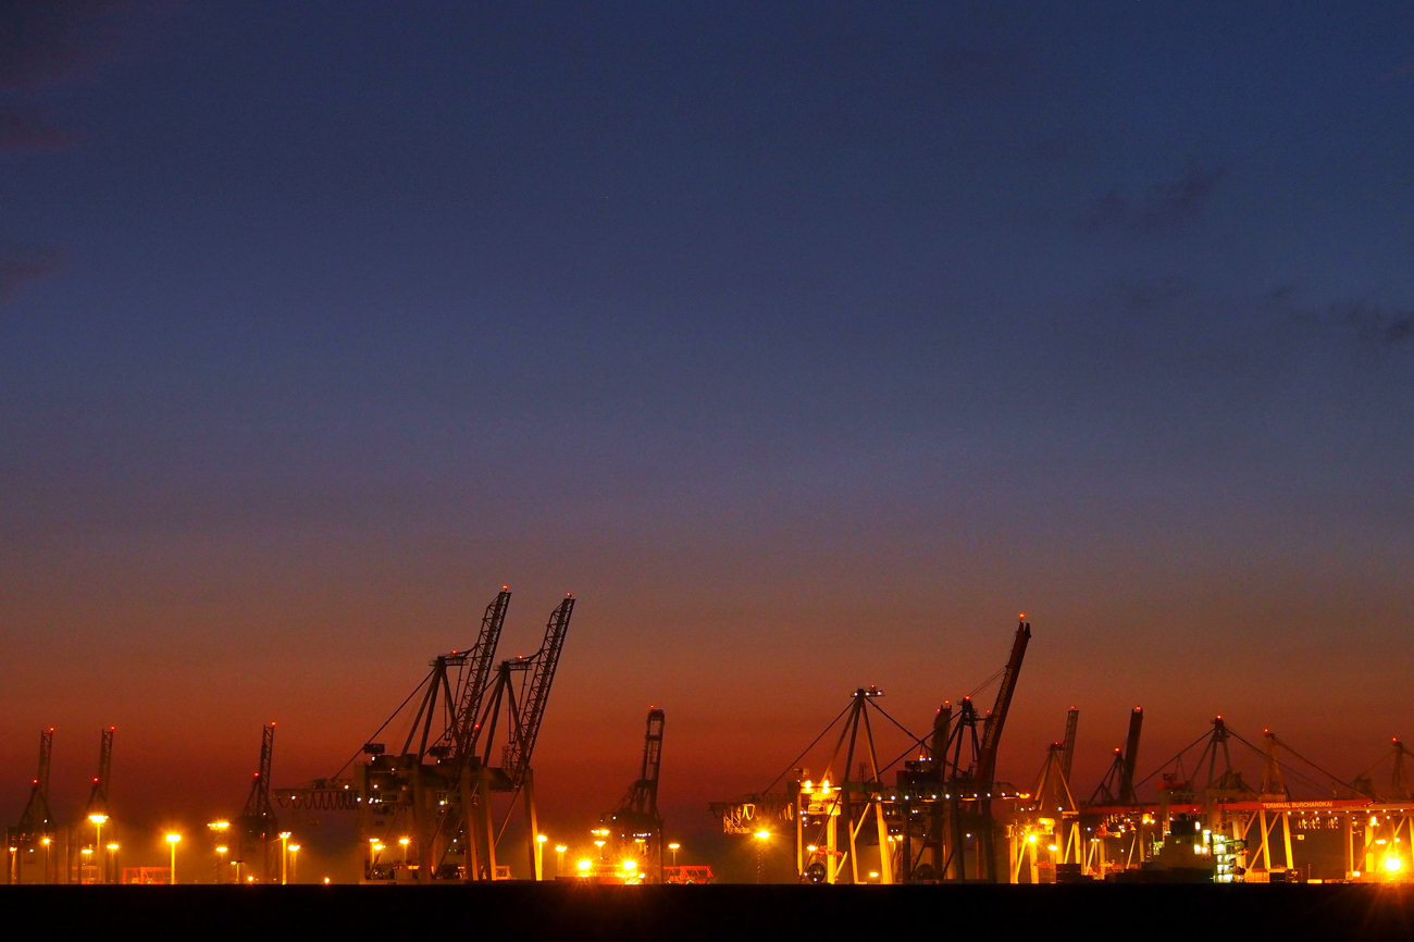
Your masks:
<path fill-rule="evenodd" d="M 1414 737 L 1398 3 L 0 0 L 0 815 L 328 775 L 578 598 L 571 836 L 1034 639 L 1000 774 Z M 983 694 L 984 697 L 987 694 Z M 157 833 L 153 830 L 153 833 Z M 146 839 L 144 839 L 146 840 Z M 154 854 L 160 847 L 154 844 Z"/>

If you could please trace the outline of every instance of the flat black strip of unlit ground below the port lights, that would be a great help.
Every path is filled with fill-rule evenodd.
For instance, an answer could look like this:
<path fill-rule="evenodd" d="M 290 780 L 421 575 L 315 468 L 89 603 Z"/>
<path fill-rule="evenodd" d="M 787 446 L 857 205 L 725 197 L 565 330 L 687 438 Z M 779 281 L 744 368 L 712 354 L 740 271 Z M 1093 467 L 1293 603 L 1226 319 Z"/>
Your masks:
<path fill-rule="evenodd" d="M 0 905 L 16 939 L 1414 939 L 1414 887 L 1332 884 L 0 887 Z"/>

